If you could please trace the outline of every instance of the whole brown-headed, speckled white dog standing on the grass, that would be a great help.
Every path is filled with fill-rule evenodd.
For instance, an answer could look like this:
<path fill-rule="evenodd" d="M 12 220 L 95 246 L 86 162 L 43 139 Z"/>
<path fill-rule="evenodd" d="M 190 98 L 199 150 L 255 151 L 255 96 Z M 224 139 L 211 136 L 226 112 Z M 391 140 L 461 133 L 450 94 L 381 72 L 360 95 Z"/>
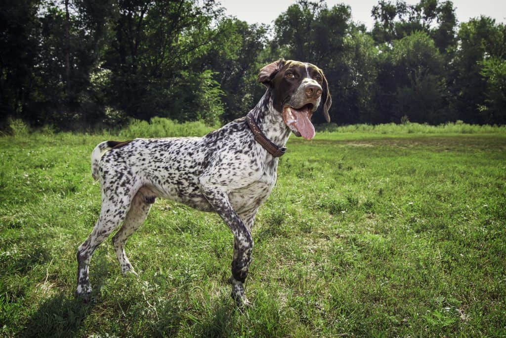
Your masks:
<path fill-rule="evenodd" d="M 278 157 L 290 132 L 315 135 L 311 115 L 321 101 L 330 121 L 327 80 L 313 64 L 279 60 L 260 71 L 267 86 L 246 118 L 203 137 L 105 141 L 92 153 L 92 175 L 100 179 L 102 209 L 92 233 L 77 250 L 76 294 L 88 301 L 90 258 L 120 223 L 112 244 L 121 273 L 136 274 L 124 252 L 126 239 L 143 223 L 156 197 L 216 211 L 234 235 L 232 297 L 248 305 L 244 281 L 251 262 L 251 228 L 276 183 Z M 323 99 L 322 99 L 323 97 Z"/>

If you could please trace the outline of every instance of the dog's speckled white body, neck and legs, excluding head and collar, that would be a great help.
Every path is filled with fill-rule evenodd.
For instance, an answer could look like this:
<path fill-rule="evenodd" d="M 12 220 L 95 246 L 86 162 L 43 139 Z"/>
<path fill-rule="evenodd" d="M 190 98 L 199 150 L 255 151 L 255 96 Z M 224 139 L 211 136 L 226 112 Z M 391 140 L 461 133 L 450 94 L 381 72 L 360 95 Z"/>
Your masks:
<path fill-rule="evenodd" d="M 272 109 L 272 90 L 251 110 L 252 117 L 272 142 L 284 145 L 290 130 Z M 145 219 L 157 197 L 172 199 L 203 211 L 216 211 L 234 234 L 232 294 L 244 297 L 253 241 L 250 229 L 259 206 L 276 182 L 278 159 L 258 144 L 244 118 L 201 138 L 108 141 L 111 147 L 98 163 L 102 210 L 99 221 L 78 250 L 78 294 L 91 292 L 88 264 L 95 248 L 123 223 L 114 242 L 121 272 L 133 268 L 124 255 L 124 241 L 135 231 L 124 230 L 132 218 Z M 132 216 L 134 215 L 134 216 Z M 121 235 L 118 235 L 121 234 Z M 115 235 L 115 236 L 116 236 Z M 126 237 L 125 237 L 126 236 Z M 237 298 L 238 297 L 238 298 Z"/>

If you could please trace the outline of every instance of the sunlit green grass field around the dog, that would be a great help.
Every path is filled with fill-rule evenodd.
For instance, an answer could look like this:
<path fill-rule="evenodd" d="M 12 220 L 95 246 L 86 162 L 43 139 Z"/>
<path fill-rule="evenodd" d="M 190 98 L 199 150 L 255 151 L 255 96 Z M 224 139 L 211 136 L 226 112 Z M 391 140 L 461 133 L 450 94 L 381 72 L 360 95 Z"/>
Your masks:
<path fill-rule="evenodd" d="M 0 335 L 506 335 L 504 128 L 292 137 L 253 229 L 244 313 L 228 228 L 159 199 L 126 245 L 139 278 L 120 276 L 108 240 L 93 302 L 74 299 L 100 210 L 90 154 L 108 138 L 0 137 Z"/>

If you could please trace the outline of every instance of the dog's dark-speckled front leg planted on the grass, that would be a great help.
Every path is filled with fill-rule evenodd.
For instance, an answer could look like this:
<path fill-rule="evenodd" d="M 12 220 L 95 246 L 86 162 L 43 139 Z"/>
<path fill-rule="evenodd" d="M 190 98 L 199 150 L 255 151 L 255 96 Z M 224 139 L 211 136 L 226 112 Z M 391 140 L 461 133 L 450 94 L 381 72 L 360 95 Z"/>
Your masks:
<path fill-rule="evenodd" d="M 202 180 L 199 183 L 200 189 L 207 201 L 223 218 L 234 234 L 234 259 L 232 260 L 232 277 L 230 277 L 229 281 L 232 284 L 232 298 L 234 298 L 237 306 L 242 308 L 249 305 L 244 294 L 244 281 L 248 274 L 251 251 L 253 249 L 251 232 L 232 208 L 224 187 L 211 185 Z"/>

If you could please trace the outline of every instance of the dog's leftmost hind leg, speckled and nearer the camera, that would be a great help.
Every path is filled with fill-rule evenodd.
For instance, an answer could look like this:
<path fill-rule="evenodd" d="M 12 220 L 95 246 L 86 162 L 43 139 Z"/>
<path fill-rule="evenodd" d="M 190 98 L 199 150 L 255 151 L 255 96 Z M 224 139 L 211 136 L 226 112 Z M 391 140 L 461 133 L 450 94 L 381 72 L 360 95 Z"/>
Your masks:
<path fill-rule="evenodd" d="M 89 300 L 92 291 L 88 269 L 90 259 L 102 243 L 123 221 L 130 208 L 132 196 L 114 196 L 108 198 L 105 190 L 102 189 L 102 208 L 100 216 L 90 236 L 77 249 L 77 290 L 76 295 Z"/>

